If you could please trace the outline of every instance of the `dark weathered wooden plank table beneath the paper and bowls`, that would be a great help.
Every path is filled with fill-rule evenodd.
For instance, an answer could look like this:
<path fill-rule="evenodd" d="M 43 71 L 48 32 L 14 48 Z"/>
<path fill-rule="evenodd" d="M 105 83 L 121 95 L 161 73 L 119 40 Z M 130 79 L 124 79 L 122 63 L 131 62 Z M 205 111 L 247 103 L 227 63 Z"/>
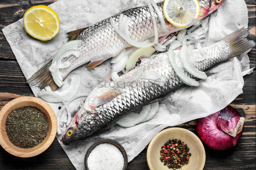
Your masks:
<path fill-rule="evenodd" d="M 22 18 L 31 6 L 50 5 L 55 1 L 57 0 L 0 0 L 0 29 Z M 248 38 L 255 42 L 255 1 L 246 0 L 246 4 L 250 31 Z M 249 52 L 249 58 L 251 67 L 255 67 L 255 47 Z M 33 96 L 33 93 L 1 31 L 0 109 L 10 100 L 21 96 Z M 250 75 L 244 76 L 243 93 L 230 105 L 246 118 L 243 135 L 238 144 L 227 151 L 215 151 L 205 147 L 204 169 L 255 169 L 255 69 Z M 191 120 L 176 127 L 196 133 L 196 122 L 197 120 Z M 127 169 L 148 169 L 146 151 L 147 147 L 128 163 Z M 74 166 L 55 138 L 45 152 L 31 158 L 15 157 L 0 146 L 0 169 L 74 169 Z"/>

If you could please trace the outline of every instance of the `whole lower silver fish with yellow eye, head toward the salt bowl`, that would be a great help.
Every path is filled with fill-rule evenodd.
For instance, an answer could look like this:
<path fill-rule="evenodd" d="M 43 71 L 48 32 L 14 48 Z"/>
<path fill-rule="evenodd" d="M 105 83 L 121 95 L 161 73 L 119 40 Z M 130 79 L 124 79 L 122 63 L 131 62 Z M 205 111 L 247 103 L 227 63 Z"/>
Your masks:
<path fill-rule="evenodd" d="M 218 63 L 249 50 L 255 46 L 255 43 L 248 41 L 246 39 L 247 35 L 247 29 L 241 28 L 219 42 L 204 47 L 207 58 L 197 62 L 196 67 L 201 71 L 206 71 Z M 174 50 L 177 57 L 179 57 L 179 51 Z M 193 50 L 193 56 L 195 58 L 202 55 L 195 49 Z M 142 60 L 138 66 L 124 73 L 121 78 L 132 77 L 138 70 L 157 70 L 161 74 L 161 78 L 165 80 L 164 86 L 159 86 L 150 80 L 139 78 L 130 83 L 111 81 L 103 87 L 96 88 L 92 92 L 94 93 L 92 95 L 93 100 L 90 101 L 97 100 L 96 103 L 98 105 L 92 108 L 92 111 L 88 111 L 84 107 L 78 111 L 66 128 L 62 137 L 62 143 L 69 145 L 82 142 L 91 135 L 95 135 L 113 125 L 135 109 L 162 100 L 170 92 L 184 85 L 170 64 L 167 53 Z M 188 77 L 195 78 L 185 69 L 183 72 Z"/>

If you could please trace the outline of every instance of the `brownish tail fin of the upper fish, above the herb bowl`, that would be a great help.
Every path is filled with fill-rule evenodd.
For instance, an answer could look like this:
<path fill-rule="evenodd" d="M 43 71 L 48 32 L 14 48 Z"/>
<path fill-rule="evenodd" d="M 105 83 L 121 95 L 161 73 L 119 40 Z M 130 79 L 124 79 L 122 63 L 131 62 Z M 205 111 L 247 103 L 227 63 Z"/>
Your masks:
<path fill-rule="evenodd" d="M 52 91 L 58 89 L 57 84 L 54 82 L 49 67 L 51 66 L 52 60 L 47 63 L 44 67 L 38 70 L 35 74 L 33 74 L 28 80 L 27 83 L 31 86 L 38 87 L 43 89 L 47 86 L 51 87 Z"/>

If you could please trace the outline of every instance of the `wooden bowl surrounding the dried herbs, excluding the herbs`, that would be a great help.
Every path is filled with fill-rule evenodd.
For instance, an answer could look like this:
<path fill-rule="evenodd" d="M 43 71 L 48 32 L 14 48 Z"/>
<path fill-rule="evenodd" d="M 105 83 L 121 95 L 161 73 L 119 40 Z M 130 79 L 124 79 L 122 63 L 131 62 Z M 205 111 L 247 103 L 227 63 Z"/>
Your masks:
<path fill-rule="evenodd" d="M 18 148 L 10 142 L 5 130 L 5 121 L 9 113 L 16 108 L 33 106 L 41 110 L 47 117 L 49 130 L 46 138 L 33 148 Z M 52 108 L 41 99 L 35 97 L 20 97 L 7 103 L 0 111 L 0 144 L 10 154 L 18 157 L 32 157 L 44 152 L 53 142 L 57 132 L 57 119 Z"/>

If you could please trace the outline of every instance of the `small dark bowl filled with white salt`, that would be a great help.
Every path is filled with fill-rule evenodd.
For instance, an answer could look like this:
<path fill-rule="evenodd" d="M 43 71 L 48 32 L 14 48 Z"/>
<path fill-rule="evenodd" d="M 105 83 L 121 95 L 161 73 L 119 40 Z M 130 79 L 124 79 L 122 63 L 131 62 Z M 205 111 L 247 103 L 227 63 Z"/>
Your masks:
<path fill-rule="evenodd" d="M 111 139 L 102 139 L 94 142 L 84 157 L 86 170 L 125 170 L 128 157 L 123 146 Z"/>

